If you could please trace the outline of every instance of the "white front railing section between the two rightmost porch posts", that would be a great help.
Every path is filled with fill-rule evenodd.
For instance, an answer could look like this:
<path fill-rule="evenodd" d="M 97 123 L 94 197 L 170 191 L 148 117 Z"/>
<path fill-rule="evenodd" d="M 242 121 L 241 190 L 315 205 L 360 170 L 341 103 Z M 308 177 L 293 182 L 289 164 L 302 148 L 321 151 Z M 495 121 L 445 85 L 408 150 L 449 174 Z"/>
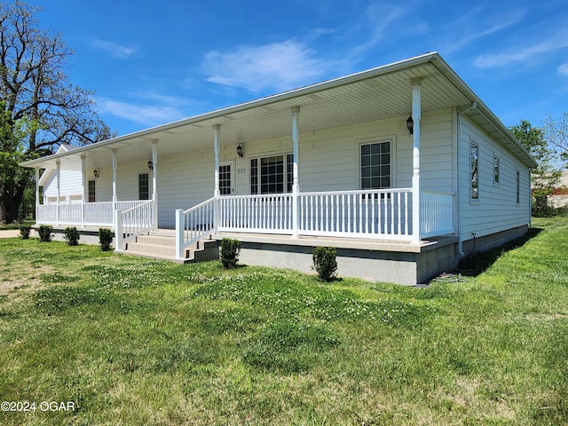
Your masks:
<path fill-rule="evenodd" d="M 299 234 L 408 240 L 412 189 L 300 193 Z"/>

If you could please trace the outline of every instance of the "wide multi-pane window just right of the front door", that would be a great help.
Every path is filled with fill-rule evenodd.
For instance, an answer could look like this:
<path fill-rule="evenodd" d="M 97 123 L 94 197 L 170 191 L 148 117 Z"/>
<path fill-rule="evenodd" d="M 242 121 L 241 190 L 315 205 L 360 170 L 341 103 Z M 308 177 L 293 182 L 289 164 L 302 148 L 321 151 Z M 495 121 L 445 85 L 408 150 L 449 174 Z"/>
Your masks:
<path fill-rule="evenodd" d="M 291 193 L 293 178 L 293 154 L 250 160 L 250 193 L 284 193 L 285 189 L 287 193 Z"/>

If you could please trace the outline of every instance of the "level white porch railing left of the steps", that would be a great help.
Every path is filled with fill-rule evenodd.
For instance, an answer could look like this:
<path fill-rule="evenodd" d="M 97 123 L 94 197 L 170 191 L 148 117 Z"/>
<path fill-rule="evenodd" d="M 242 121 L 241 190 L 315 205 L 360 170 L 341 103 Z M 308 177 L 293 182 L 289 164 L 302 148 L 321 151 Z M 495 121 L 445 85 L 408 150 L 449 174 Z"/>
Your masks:
<path fill-rule="evenodd" d="M 115 209 L 132 209 L 146 202 L 116 201 Z M 36 222 L 38 225 L 114 226 L 113 201 L 59 204 L 59 206 L 40 204 L 37 206 Z"/>

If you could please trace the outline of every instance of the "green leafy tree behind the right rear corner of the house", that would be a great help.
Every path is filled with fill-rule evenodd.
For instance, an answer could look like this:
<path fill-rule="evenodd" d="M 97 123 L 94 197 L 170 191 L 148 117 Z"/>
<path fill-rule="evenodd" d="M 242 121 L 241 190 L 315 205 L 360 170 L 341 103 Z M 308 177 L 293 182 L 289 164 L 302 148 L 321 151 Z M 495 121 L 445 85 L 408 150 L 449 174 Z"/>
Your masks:
<path fill-rule="evenodd" d="M 533 127 L 527 120 L 521 120 L 517 126 L 512 126 L 509 130 L 539 164 L 531 173 L 533 215 L 550 215 L 553 209 L 548 205 L 548 196 L 558 185 L 561 173 L 554 167 L 554 152 L 548 146 L 545 131 L 539 127 Z"/>

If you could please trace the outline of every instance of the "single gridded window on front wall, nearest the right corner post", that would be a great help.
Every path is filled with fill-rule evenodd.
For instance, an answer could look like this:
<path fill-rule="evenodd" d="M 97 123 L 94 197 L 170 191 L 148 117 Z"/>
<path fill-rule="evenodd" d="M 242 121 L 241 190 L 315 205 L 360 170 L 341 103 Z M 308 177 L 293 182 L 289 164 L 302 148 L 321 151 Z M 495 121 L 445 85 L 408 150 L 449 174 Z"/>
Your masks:
<path fill-rule="evenodd" d="M 390 188 L 390 142 L 361 145 L 361 189 Z"/>

